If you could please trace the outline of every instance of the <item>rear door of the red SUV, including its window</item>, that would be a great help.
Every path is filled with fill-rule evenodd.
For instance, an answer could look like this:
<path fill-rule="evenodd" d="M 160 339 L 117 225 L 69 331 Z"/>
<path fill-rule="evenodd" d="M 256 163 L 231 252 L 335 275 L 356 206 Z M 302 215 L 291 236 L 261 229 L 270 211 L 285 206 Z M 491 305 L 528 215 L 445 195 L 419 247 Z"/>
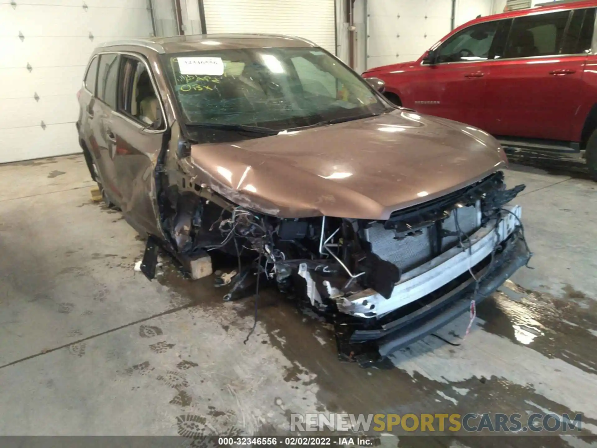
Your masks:
<path fill-rule="evenodd" d="M 485 130 L 496 136 L 571 141 L 594 8 L 516 17 L 485 73 Z"/>

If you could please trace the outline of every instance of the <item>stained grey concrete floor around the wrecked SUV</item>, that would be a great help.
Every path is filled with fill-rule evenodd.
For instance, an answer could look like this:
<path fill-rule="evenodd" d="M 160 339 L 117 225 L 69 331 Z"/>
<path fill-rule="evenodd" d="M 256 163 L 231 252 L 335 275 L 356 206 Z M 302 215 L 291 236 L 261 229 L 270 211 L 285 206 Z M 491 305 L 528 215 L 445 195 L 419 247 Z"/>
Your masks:
<path fill-rule="evenodd" d="M 597 434 L 597 184 L 507 178 L 527 185 L 515 202 L 533 269 L 479 306 L 466 339 L 466 316 L 439 332 L 459 345 L 429 336 L 365 370 L 277 293 L 245 345 L 253 299 L 224 303 L 168 263 L 152 282 L 135 272 L 144 243 L 90 201 L 82 156 L 0 166 L 0 434 L 284 434 L 289 413 L 316 410 L 582 412 Z M 428 446 L 414 439 L 398 446 Z"/>

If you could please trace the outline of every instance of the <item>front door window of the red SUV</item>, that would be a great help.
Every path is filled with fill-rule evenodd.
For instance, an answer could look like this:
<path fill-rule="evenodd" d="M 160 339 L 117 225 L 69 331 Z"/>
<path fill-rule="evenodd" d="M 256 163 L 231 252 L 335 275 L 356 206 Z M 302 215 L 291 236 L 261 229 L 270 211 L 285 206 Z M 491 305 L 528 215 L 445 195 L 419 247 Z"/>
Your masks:
<path fill-rule="evenodd" d="M 490 59 L 490 48 L 497 27 L 497 22 L 484 22 L 463 29 L 439 47 L 438 62 Z"/>

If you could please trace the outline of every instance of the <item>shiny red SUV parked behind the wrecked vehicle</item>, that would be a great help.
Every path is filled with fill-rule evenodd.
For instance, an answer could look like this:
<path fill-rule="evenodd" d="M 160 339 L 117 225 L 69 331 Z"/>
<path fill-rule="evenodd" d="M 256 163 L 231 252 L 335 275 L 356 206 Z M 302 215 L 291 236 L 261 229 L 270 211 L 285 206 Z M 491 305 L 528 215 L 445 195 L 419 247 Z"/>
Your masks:
<path fill-rule="evenodd" d="M 504 146 L 586 158 L 597 177 L 597 0 L 472 20 L 416 62 L 377 67 L 394 103 L 482 128 Z"/>

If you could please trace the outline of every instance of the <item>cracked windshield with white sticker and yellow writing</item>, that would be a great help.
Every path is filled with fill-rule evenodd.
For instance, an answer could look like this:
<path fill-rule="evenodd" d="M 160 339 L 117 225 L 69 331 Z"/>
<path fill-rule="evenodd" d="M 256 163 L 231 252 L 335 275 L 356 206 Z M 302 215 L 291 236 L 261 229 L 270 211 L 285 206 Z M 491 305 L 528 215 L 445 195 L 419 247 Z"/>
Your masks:
<path fill-rule="evenodd" d="M 362 78 L 319 48 L 241 48 L 162 58 L 188 125 L 284 130 L 387 110 Z"/>

